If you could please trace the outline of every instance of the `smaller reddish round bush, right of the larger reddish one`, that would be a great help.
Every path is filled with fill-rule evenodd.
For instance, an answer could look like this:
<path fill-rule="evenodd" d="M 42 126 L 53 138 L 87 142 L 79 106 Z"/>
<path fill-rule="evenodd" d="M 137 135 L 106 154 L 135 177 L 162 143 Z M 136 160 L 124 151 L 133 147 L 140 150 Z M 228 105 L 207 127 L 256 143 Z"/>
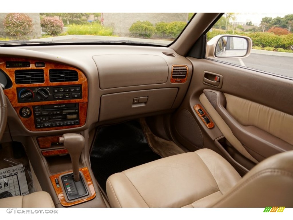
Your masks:
<path fill-rule="evenodd" d="M 41 21 L 43 31 L 48 35 L 59 35 L 63 31 L 63 22 L 57 18 L 45 17 Z"/>

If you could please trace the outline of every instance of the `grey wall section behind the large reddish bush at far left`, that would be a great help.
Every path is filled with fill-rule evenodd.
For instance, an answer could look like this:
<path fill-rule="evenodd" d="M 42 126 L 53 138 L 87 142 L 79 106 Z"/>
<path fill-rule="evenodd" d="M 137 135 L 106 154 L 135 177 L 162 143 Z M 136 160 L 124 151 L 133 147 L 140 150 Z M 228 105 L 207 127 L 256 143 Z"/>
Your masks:
<path fill-rule="evenodd" d="M 7 35 L 4 31 L 3 19 L 8 13 L 0 13 L 0 37 L 11 37 Z M 33 39 L 39 38 L 41 34 L 41 20 L 40 13 L 25 13 L 33 20 L 33 32 L 30 35 L 25 36 L 25 38 Z"/>

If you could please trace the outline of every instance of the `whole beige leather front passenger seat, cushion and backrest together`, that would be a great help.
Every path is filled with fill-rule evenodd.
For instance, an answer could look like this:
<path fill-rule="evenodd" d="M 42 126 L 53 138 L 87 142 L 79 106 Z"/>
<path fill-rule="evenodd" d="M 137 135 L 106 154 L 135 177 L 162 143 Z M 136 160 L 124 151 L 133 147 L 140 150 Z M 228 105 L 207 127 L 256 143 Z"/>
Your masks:
<path fill-rule="evenodd" d="M 293 151 L 243 178 L 209 149 L 162 158 L 111 175 L 111 207 L 293 207 Z"/>

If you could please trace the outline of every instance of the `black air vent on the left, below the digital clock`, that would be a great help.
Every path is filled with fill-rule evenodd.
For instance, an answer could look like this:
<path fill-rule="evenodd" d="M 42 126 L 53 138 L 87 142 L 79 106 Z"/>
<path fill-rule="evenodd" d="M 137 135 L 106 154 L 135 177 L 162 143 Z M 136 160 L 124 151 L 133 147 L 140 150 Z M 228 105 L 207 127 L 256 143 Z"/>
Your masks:
<path fill-rule="evenodd" d="M 16 84 L 43 83 L 44 70 L 15 70 Z"/>

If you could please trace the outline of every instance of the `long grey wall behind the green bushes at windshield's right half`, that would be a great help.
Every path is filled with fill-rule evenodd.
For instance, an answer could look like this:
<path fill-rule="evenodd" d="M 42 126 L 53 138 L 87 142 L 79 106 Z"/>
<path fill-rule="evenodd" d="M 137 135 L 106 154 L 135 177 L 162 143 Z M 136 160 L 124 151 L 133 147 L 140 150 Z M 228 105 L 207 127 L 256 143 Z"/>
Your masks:
<path fill-rule="evenodd" d="M 104 26 L 110 26 L 119 37 L 130 36 L 129 28 L 136 21 L 149 21 L 153 25 L 160 21 L 185 21 L 188 13 L 103 13 Z"/>

